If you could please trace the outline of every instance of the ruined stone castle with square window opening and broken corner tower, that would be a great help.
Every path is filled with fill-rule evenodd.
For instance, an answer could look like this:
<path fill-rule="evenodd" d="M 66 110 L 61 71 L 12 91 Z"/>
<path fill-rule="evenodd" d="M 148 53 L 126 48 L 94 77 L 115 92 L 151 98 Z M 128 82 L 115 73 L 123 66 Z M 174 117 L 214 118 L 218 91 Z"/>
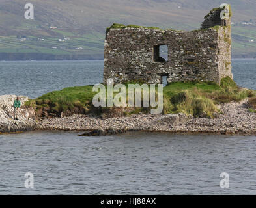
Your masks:
<path fill-rule="evenodd" d="M 205 16 L 197 31 L 113 24 L 105 40 L 104 83 L 141 81 L 214 81 L 233 78 L 231 19 L 221 19 L 221 8 Z M 165 45 L 166 57 L 161 56 Z"/>

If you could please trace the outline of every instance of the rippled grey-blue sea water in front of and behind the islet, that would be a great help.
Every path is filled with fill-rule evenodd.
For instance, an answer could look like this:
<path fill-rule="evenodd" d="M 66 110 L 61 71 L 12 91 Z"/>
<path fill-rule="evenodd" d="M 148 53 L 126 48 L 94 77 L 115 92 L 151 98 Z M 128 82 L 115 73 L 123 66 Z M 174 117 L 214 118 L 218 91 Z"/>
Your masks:
<path fill-rule="evenodd" d="M 0 94 L 36 98 L 102 82 L 103 61 L 0 62 Z M 256 60 L 233 60 L 256 90 Z M 256 137 L 78 132 L 0 135 L 0 194 L 256 194 Z M 34 188 L 25 188 L 25 173 Z M 220 174 L 229 188 L 220 188 Z"/>

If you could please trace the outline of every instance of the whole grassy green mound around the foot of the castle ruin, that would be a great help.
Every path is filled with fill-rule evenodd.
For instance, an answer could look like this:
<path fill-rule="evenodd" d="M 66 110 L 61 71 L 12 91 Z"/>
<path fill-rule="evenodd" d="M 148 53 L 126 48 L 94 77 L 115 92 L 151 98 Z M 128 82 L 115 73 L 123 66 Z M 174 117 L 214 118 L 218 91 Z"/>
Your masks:
<path fill-rule="evenodd" d="M 128 83 L 126 83 L 126 86 L 128 86 Z M 256 100 L 254 90 L 239 88 L 229 77 L 221 79 L 220 86 L 212 82 L 170 83 L 164 87 L 163 93 L 164 114 L 183 112 L 193 116 L 203 114 L 211 118 L 214 113 L 220 112 L 216 104 L 241 101 L 248 97 Z M 96 92 L 92 92 L 92 86 L 69 87 L 31 99 L 25 105 L 34 107 L 39 112 L 39 116 L 43 111 L 48 111 L 57 116 L 66 112 L 69 112 L 69 114 L 87 113 L 95 110 L 92 106 L 94 94 Z M 143 93 L 141 93 L 141 98 L 143 98 Z M 150 108 L 137 107 L 134 113 L 149 112 L 149 110 Z"/>

